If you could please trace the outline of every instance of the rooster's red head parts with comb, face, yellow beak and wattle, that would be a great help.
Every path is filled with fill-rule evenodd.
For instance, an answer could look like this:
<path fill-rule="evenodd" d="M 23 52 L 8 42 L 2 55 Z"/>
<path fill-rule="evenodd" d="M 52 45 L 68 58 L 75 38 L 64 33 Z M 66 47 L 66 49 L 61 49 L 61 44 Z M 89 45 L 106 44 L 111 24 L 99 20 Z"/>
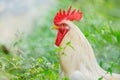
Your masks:
<path fill-rule="evenodd" d="M 79 21 L 82 18 L 82 12 L 76 9 L 71 11 L 71 8 L 72 6 L 70 6 L 68 11 L 60 9 L 59 12 L 54 17 L 54 26 L 52 27 L 52 29 L 58 30 L 56 42 L 55 42 L 57 46 L 60 45 L 62 39 L 64 38 L 66 33 L 70 30 L 69 25 L 64 23 L 64 20 Z"/>

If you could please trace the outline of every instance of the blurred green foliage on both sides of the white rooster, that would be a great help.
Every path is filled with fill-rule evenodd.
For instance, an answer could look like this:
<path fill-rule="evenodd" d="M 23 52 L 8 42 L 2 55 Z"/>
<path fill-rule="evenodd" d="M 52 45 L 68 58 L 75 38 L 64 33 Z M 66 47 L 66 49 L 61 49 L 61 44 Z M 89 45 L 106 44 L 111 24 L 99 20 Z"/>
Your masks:
<path fill-rule="evenodd" d="M 20 34 L 5 54 L 0 51 L 0 80 L 60 80 L 59 60 L 54 45 L 56 31 L 51 30 L 53 18 L 60 8 L 70 5 L 80 9 L 83 18 L 74 23 L 89 40 L 96 59 L 105 70 L 120 73 L 120 1 L 119 0 L 56 0 L 44 17 L 34 21 L 28 35 Z M 66 80 L 66 79 L 65 79 Z"/>

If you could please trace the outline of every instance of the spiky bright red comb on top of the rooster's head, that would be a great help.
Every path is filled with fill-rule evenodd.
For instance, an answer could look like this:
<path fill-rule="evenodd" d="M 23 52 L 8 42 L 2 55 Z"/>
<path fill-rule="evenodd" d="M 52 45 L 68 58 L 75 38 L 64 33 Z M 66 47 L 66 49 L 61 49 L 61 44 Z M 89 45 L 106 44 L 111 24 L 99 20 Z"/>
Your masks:
<path fill-rule="evenodd" d="M 67 12 L 62 11 L 60 9 L 60 11 L 54 17 L 54 24 L 57 25 L 62 20 L 70 20 L 70 21 L 77 20 L 77 21 L 79 21 L 82 18 L 82 12 L 80 12 L 79 10 L 76 11 L 76 9 L 74 9 L 71 12 L 71 8 L 72 8 L 72 6 L 70 6 L 70 8 L 68 9 Z"/>

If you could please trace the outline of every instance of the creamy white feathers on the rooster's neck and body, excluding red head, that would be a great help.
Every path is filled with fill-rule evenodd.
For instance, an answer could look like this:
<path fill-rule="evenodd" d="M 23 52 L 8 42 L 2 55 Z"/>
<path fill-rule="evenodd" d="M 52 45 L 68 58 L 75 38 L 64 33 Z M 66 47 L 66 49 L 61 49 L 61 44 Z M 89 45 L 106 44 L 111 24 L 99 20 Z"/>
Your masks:
<path fill-rule="evenodd" d="M 91 45 L 76 25 L 67 20 L 62 23 L 70 27 L 60 44 L 63 49 L 59 51 L 64 76 L 70 80 L 98 80 L 101 76 L 102 80 L 120 80 L 120 75 L 106 74 L 106 71 L 98 65 Z M 68 42 L 71 46 L 66 45 Z"/>

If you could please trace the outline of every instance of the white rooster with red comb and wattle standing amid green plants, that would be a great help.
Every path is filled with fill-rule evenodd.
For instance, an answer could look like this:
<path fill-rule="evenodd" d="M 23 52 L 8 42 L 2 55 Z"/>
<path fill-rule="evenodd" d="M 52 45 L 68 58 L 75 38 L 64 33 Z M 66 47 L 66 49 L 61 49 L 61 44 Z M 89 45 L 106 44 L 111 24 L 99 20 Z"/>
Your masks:
<path fill-rule="evenodd" d="M 100 77 L 102 80 L 120 80 L 119 74 L 110 75 L 98 65 L 88 40 L 72 22 L 81 20 L 82 13 L 76 9 L 71 11 L 71 8 L 68 11 L 60 9 L 52 27 L 58 30 L 55 44 L 60 47 L 61 77 L 70 80 L 98 80 Z"/>

